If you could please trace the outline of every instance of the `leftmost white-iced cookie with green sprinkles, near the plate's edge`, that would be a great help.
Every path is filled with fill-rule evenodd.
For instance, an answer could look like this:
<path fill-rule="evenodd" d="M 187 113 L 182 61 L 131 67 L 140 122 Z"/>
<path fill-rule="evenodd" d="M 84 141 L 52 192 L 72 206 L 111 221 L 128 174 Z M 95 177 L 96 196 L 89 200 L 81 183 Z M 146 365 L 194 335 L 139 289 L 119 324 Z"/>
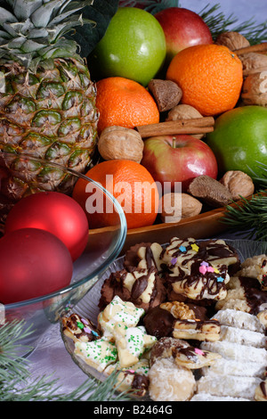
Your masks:
<path fill-rule="evenodd" d="M 102 373 L 104 369 L 117 361 L 117 348 L 113 342 L 104 338 L 97 341 L 77 341 L 74 349 L 75 355 L 81 357 L 88 366 Z"/>

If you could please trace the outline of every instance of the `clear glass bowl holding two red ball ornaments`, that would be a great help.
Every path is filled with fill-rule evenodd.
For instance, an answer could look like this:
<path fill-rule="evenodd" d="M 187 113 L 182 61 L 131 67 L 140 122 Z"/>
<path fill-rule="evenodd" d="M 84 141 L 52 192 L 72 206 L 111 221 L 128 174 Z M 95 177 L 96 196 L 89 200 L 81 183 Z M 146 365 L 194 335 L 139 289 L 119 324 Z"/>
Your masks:
<path fill-rule="evenodd" d="M 45 182 L 47 178 L 49 180 Z M 77 302 L 101 279 L 124 246 L 127 226 L 125 213 L 117 200 L 89 177 L 57 163 L 36 159 L 30 155 L 0 152 L 2 234 L 4 234 L 4 219 L 9 210 L 16 201 L 21 199 L 22 195 L 28 194 L 29 189 L 30 193 L 37 193 L 40 192 L 38 188 L 41 185 L 42 191 L 61 192 L 71 196 L 73 187 L 79 179 L 83 179 L 83 183 L 107 203 L 102 207 L 104 213 L 106 209 L 109 212 L 112 210 L 112 226 L 99 229 L 89 228 L 85 251 L 73 263 L 73 275 L 69 286 L 42 297 L 5 305 L 1 304 L 0 295 L 0 325 L 13 321 L 19 321 L 23 325 L 21 336 L 24 337 L 18 340 L 18 356 L 26 356 L 32 351 L 45 330 L 58 322 L 62 314 L 66 315 L 69 310 L 73 309 Z M 93 219 L 93 213 L 90 214 L 90 219 Z"/>

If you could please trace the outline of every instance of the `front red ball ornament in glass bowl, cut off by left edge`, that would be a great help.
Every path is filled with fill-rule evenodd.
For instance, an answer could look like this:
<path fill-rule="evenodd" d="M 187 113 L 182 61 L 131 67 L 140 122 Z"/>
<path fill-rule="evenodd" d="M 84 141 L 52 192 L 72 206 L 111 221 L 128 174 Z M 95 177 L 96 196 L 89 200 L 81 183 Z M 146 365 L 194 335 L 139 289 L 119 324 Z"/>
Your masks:
<path fill-rule="evenodd" d="M 70 253 L 58 237 L 23 228 L 0 239 L 0 302 L 29 300 L 69 285 Z"/>

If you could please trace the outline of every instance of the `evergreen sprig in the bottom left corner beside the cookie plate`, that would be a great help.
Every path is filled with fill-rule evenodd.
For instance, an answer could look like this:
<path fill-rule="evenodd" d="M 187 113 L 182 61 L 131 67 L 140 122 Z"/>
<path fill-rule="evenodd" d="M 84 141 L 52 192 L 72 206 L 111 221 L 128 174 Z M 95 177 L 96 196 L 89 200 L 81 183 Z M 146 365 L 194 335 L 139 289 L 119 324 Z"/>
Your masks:
<path fill-rule="evenodd" d="M 128 400 L 125 393 L 116 392 L 118 371 L 100 382 L 88 378 L 69 394 L 53 375 L 33 380 L 29 373 L 28 358 L 17 357 L 19 339 L 32 333 L 25 330 L 24 321 L 13 321 L 0 327 L 0 400 L 1 401 L 114 401 Z"/>

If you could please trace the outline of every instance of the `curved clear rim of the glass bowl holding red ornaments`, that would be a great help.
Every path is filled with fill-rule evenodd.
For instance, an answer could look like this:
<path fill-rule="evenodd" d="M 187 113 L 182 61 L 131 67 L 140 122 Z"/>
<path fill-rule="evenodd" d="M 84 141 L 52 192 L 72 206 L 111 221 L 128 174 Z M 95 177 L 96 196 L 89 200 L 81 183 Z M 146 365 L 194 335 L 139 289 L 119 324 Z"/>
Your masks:
<path fill-rule="evenodd" d="M 114 196 L 111 193 L 109 193 L 109 191 L 107 189 L 105 189 L 100 183 L 94 181 L 90 177 L 85 176 L 83 173 L 79 173 L 76 170 L 73 170 L 72 168 L 65 168 L 64 166 L 61 166 L 61 164 L 59 164 L 59 163 L 54 163 L 52 161 L 39 159 L 37 157 L 34 157 L 34 156 L 32 156 L 30 154 L 26 154 L 26 153 L 16 154 L 15 152 L 5 152 L 3 150 L 0 150 L 0 157 L 3 157 L 3 155 L 9 155 L 11 157 L 18 157 L 18 158 L 22 158 L 22 159 L 25 159 L 25 160 L 26 159 L 36 160 L 40 163 L 52 166 L 54 168 L 59 168 L 59 169 L 63 170 L 64 172 L 67 172 L 67 173 L 69 173 L 69 174 L 71 174 L 71 175 L 73 175 L 77 178 L 82 178 L 86 182 L 91 182 L 97 188 L 101 189 L 102 193 L 105 193 L 109 197 L 109 199 L 113 202 L 114 207 L 117 209 L 117 214 L 118 214 L 119 220 L 120 220 L 120 234 L 119 234 L 119 239 L 117 241 L 116 247 L 112 251 L 112 253 L 109 255 L 109 258 L 107 258 L 105 260 L 105 262 L 101 265 L 101 270 L 99 270 L 99 268 L 94 269 L 93 272 L 90 275 L 86 275 L 85 278 L 80 279 L 75 283 L 70 283 L 68 286 L 66 286 L 64 288 L 61 288 L 61 290 L 58 290 L 58 291 L 55 291 L 55 292 L 50 292 L 48 294 L 44 294 L 41 297 L 36 297 L 36 298 L 33 298 L 33 299 L 17 301 L 17 302 L 13 302 L 13 303 L 9 303 L 9 304 L 3 304 L 4 309 L 9 310 L 9 309 L 13 309 L 13 308 L 20 308 L 20 307 L 28 306 L 28 305 L 31 305 L 31 304 L 36 304 L 36 303 L 42 302 L 44 300 L 50 300 L 50 299 L 52 299 L 54 297 L 57 297 L 61 294 L 65 294 L 66 292 L 75 290 L 78 286 L 83 285 L 87 281 L 92 280 L 93 277 L 96 274 L 101 275 L 106 270 L 106 268 L 109 267 L 110 263 L 112 263 L 112 261 L 117 258 L 119 252 L 123 248 L 123 245 L 124 245 L 125 239 L 126 239 L 126 234 L 127 234 L 127 222 L 126 222 L 126 218 L 125 218 L 125 212 L 122 209 L 119 202 L 117 201 L 117 199 L 114 198 Z"/>

